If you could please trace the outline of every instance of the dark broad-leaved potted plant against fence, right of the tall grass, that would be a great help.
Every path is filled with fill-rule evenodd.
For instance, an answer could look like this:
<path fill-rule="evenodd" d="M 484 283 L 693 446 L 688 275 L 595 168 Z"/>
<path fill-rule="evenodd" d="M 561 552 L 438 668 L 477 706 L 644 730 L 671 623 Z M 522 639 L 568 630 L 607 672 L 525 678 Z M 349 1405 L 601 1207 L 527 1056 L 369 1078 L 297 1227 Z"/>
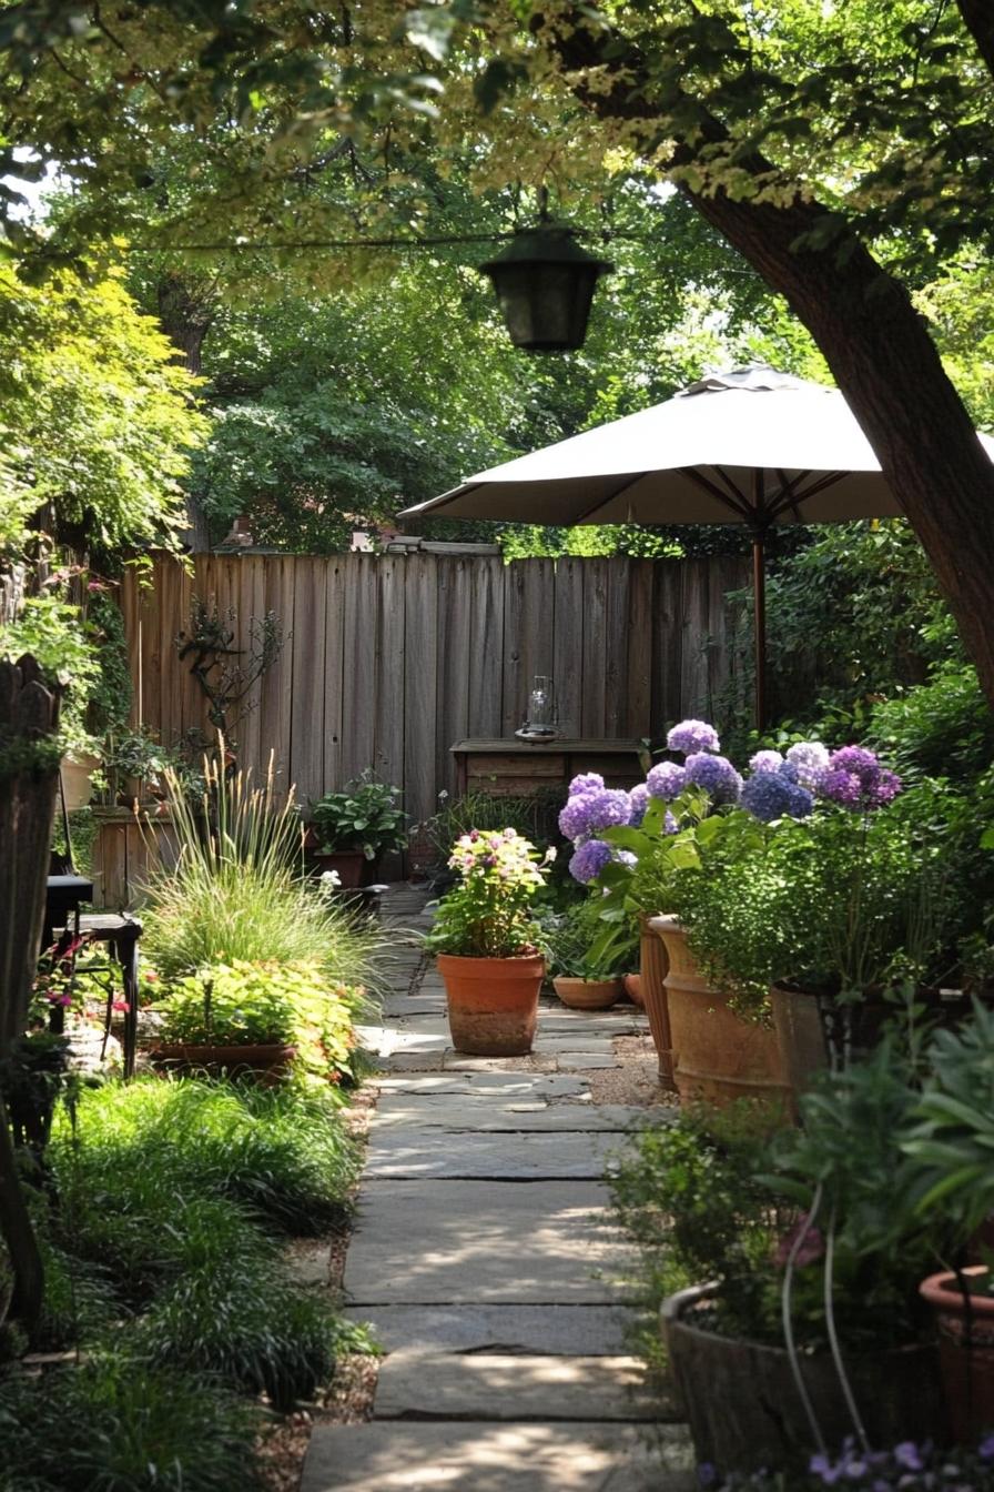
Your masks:
<path fill-rule="evenodd" d="M 322 873 L 335 871 L 341 886 L 368 886 L 383 855 L 407 846 L 401 791 L 367 768 L 341 792 L 326 792 L 310 810 L 310 856 Z"/>

